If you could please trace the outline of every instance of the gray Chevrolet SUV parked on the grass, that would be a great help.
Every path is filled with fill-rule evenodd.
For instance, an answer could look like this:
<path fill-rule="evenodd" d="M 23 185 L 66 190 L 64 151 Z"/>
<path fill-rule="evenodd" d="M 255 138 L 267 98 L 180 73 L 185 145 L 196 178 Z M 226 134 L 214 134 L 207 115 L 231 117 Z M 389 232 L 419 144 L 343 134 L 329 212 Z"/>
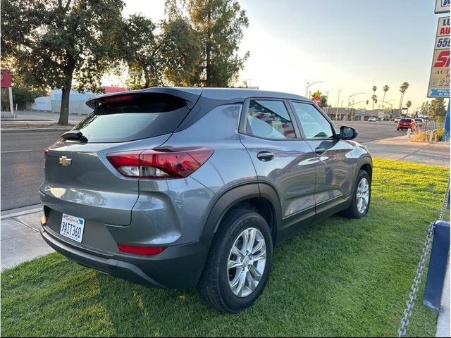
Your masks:
<path fill-rule="evenodd" d="M 274 246 L 368 212 L 371 156 L 305 97 L 160 87 L 87 105 L 45 151 L 41 233 L 102 273 L 197 287 L 237 313 L 263 292 Z"/>

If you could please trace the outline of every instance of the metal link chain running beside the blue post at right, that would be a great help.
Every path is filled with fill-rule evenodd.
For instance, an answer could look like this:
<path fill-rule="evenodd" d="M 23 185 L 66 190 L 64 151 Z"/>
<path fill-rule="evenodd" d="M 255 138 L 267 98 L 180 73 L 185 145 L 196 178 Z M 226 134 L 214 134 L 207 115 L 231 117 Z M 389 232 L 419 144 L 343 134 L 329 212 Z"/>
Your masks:
<path fill-rule="evenodd" d="M 442 210 L 440 211 L 439 220 L 443 220 L 445 216 L 446 206 L 448 203 L 448 196 L 450 196 L 450 177 L 448 177 L 448 185 L 445 192 L 445 198 L 443 199 Z M 426 235 L 426 241 L 424 242 L 423 252 L 421 253 L 420 263 L 418 263 L 418 268 L 416 269 L 416 275 L 414 278 L 414 284 L 409 294 L 409 301 L 406 303 L 406 308 L 404 310 L 404 317 L 402 317 L 401 325 L 397 330 L 397 337 L 404 337 L 407 332 L 407 325 L 409 325 L 409 318 L 412 315 L 412 308 L 414 308 L 414 301 L 418 295 L 418 290 L 421 283 L 421 277 L 423 276 L 424 264 L 426 263 L 426 257 L 428 256 L 429 246 L 431 246 L 431 239 L 434 233 L 435 223 L 431 222 L 429 225 L 428 234 Z"/>

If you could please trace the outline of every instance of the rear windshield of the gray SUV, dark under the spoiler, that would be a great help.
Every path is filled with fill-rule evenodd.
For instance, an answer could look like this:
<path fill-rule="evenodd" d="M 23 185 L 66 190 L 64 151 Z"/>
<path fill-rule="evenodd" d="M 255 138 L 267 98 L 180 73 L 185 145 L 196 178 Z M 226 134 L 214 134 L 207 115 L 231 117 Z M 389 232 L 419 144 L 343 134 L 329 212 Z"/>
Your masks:
<path fill-rule="evenodd" d="M 74 130 L 88 142 L 128 142 L 171 133 L 190 109 L 167 94 L 140 94 L 130 101 L 100 104 Z"/>

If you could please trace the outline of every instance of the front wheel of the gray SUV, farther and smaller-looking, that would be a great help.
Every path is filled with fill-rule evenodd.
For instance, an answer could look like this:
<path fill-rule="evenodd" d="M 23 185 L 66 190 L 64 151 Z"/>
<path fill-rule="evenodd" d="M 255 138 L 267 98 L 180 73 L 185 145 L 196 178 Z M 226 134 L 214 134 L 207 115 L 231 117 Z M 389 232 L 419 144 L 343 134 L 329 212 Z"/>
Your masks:
<path fill-rule="evenodd" d="M 347 218 L 362 218 L 371 202 L 371 179 L 365 170 L 359 170 L 350 206 L 340 214 Z M 365 205 L 364 205 L 365 204 Z"/>

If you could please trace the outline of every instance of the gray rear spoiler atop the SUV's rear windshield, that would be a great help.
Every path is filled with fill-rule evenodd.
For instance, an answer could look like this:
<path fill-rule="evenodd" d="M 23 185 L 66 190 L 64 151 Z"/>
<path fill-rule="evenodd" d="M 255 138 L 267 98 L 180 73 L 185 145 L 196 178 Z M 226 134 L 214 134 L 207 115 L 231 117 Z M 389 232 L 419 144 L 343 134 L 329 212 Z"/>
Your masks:
<path fill-rule="evenodd" d="M 142 90 L 130 90 L 126 92 L 117 92 L 113 94 L 105 94 L 95 96 L 92 99 L 86 101 L 86 105 L 89 108 L 95 109 L 99 104 L 107 102 L 118 102 L 132 100 L 135 96 L 142 94 L 166 94 L 178 97 L 185 101 L 188 108 L 192 109 L 196 104 L 199 97 L 202 95 L 201 88 L 183 88 L 183 87 L 152 87 Z"/>

